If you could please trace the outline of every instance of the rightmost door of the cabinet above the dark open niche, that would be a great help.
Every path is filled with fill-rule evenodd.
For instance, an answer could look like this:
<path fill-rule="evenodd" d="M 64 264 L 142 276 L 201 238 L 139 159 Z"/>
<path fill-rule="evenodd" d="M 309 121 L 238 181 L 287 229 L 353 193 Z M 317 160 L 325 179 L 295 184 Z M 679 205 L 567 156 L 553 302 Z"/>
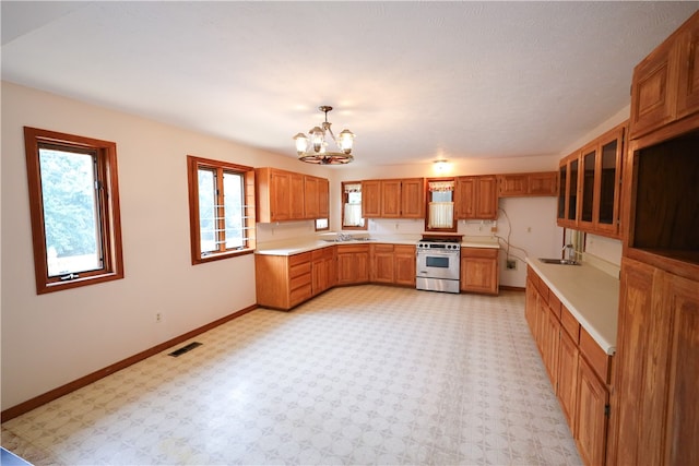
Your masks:
<path fill-rule="evenodd" d="M 699 15 L 686 24 L 678 37 L 679 85 L 677 118 L 699 111 Z"/>

